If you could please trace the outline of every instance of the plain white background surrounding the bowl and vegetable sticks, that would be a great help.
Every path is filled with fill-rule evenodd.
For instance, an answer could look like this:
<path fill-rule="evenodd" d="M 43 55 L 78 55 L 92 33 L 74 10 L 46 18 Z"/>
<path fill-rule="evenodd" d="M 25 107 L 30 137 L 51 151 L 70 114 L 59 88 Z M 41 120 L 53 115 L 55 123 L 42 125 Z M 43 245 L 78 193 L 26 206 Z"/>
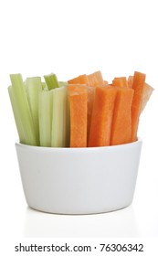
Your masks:
<path fill-rule="evenodd" d="M 158 237 L 158 15 L 153 0 L 0 2 L 0 233 L 21 238 Z M 55 72 L 59 80 L 100 69 L 105 80 L 146 73 L 155 89 L 142 113 L 142 157 L 132 206 L 90 216 L 40 213 L 26 206 L 7 86 Z"/>

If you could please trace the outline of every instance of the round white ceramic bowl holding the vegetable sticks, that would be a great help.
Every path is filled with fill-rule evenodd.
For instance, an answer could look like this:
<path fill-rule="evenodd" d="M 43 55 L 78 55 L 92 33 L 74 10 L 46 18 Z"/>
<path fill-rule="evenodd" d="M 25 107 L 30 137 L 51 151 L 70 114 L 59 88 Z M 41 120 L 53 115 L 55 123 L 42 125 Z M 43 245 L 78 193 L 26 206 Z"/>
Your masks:
<path fill-rule="evenodd" d="M 59 214 L 91 214 L 132 204 L 142 140 L 91 148 L 16 143 L 26 202 Z"/>

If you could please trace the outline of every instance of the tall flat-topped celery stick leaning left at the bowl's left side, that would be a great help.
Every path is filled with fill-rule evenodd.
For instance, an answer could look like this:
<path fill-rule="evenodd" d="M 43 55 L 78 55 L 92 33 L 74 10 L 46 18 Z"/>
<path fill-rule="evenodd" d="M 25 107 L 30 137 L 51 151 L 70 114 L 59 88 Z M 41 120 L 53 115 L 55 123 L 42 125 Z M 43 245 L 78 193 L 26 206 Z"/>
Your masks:
<path fill-rule="evenodd" d="M 11 74 L 10 80 L 15 95 L 16 106 L 23 125 L 26 144 L 37 145 L 35 126 L 32 120 L 29 103 L 26 96 L 26 89 L 21 74 Z"/>

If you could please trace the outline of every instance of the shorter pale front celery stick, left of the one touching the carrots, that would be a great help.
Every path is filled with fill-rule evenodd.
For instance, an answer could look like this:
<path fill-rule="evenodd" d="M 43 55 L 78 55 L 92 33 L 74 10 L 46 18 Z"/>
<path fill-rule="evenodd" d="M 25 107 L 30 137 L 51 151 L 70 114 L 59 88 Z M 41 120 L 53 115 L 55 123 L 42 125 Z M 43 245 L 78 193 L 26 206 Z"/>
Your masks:
<path fill-rule="evenodd" d="M 52 91 L 39 92 L 39 138 L 41 146 L 51 146 Z"/>

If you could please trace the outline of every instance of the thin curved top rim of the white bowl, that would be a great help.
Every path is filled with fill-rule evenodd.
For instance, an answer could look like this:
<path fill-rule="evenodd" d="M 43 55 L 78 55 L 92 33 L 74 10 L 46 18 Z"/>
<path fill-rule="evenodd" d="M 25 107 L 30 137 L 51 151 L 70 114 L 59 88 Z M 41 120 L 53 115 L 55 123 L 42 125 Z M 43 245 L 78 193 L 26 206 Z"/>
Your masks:
<path fill-rule="evenodd" d="M 142 144 L 142 138 L 138 137 L 135 142 L 129 144 L 117 144 L 117 145 L 108 145 L 108 146 L 92 146 L 92 147 L 46 147 L 46 146 L 38 146 L 38 145 L 29 145 L 29 144 L 21 144 L 20 142 L 16 141 L 16 146 L 21 148 L 27 148 L 30 150 L 47 150 L 47 151 L 93 151 L 93 150 L 102 150 L 102 149 L 118 149 L 118 148 L 126 148 L 129 146 L 134 146 L 136 144 Z"/>

